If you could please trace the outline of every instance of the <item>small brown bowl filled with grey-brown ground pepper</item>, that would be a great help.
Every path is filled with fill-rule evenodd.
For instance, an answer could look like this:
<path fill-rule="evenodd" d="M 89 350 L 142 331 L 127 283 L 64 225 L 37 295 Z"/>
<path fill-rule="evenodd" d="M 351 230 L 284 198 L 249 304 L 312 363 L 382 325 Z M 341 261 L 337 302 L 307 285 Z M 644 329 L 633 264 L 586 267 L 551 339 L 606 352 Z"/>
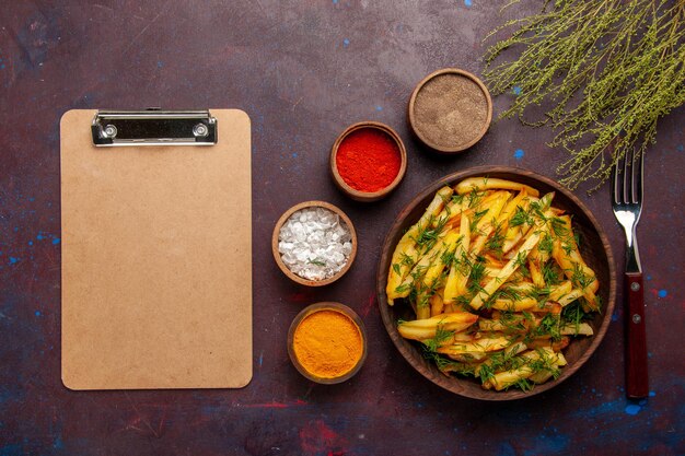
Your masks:
<path fill-rule="evenodd" d="M 474 74 L 438 70 L 418 83 L 409 98 L 409 126 L 439 153 L 462 152 L 483 138 L 492 120 L 492 100 Z"/>

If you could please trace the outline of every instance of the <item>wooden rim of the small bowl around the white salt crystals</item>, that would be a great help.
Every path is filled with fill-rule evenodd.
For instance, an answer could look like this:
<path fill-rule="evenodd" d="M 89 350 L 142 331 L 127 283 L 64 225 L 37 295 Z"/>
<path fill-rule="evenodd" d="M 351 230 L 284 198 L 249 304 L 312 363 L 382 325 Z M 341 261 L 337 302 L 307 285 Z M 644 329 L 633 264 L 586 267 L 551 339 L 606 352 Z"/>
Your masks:
<path fill-rule="evenodd" d="M 288 268 L 288 266 L 283 262 L 280 253 L 278 252 L 278 235 L 280 233 L 281 226 L 283 226 L 283 223 L 286 223 L 286 221 L 290 218 L 290 215 L 292 215 L 300 209 L 305 209 L 305 208 L 325 208 L 337 213 L 340 217 L 340 219 L 342 219 L 342 221 L 347 224 L 347 226 L 350 230 L 350 234 L 352 236 L 352 252 L 350 253 L 350 256 L 347 259 L 347 264 L 345 265 L 345 267 L 342 267 L 342 269 L 338 273 L 336 273 L 335 276 L 328 279 L 309 280 L 309 279 L 298 276 L 297 273 L 292 272 Z M 271 235 L 271 252 L 274 253 L 274 259 L 276 260 L 276 264 L 278 265 L 280 270 L 283 271 L 283 273 L 288 276 L 291 280 L 300 284 L 307 285 L 307 287 L 323 287 L 323 285 L 333 283 L 339 278 L 341 278 L 342 276 L 345 276 L 345 273 L 348 271 L 350 266 L 352 266 L 352 261 L 355 261 L 355 257 L 357 256 L 357 232 L 355 231 L 355 225 L 352 225 L 352 221 L 349 219 L 349 217 L 347 217 L 345 212 L 342 212 L 342 210 L 340 210 L 340 208 L 333 206 L 326 201 L 304 201 L 288 209 L 280 217 L 280 219 L 278 219 L 278 222 L 276 222 L 276 226 L 274 227 L 274 234 Z"/>

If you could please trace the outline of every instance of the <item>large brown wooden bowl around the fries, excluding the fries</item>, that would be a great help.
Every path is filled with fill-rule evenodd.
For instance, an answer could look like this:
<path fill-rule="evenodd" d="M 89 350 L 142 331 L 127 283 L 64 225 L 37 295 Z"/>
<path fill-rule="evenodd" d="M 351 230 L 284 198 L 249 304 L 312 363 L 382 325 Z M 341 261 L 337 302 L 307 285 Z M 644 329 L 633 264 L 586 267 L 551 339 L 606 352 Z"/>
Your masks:
<path fill-rule="evenodd" d="M 573 214 L 573 230 L 578 231 L 583 239 L 580 246 L 581 253 L 588 266 L 595 271 L 600 281 L 597 294 L 602 300 L 603 308 L 601 313 L 595 315 L 592 321 L 589 321 L 594 330 L 594 336 L 573 339 L 569 347 L 564 350 L 568 365 L 561 369 L 559 377 L 556 381 L 550 379 L 542 385 L 535 385 L 535 387 L 527 393 L 518 389 L 507 391 L 486 390 L 483 389 L 480 383 L 474 378 L 444 375 L 438 370 L 434 363 L 423 358 L 422 349 L 419 347 L 418 342 L 415 343 L 404 339 L 397 331 L 398 319 L 410 320 L 416 318 L 411 307 L 399 301 L 396 302 L 394 306 L 387 305 L 385 294 L 387 271 L 390 262 L 392 261 L 393 252 L 403 233 L 418 221 L 440 187 L 454 185 L 466 177 L 473 176 L 489 176 L 515 180 L 538 189 L 541 195 L 555 191 L 556 195 L 553 204 Z M 402 355 L 414 369 L 434 384 L 461 396 L 484 400 L 510 400 L 530 397 L 554 388 L 573 375 L 573 373 L 588 361 L 590 355 L 592 355 L 600 346 L 600 342 L 602 342 L 611 321 L 616 300 L 616 271 L 614 268 L 614 257 L 606 235 L 594 215 L 592 215 L 590 210 L 588 210 L 573 194 L 556 182 L 533 172 L 504 166 L 480 166 L 451 174 L 436 182 L 421 191 L 405 207 L 399 215 L 397 215 L 390 233 L 385 237 L 381 262 L 379 265 L 376 287 L 383 325 L 395 343 L 395 347 L 397 347 L 397 350 L 399 350 Z"/>

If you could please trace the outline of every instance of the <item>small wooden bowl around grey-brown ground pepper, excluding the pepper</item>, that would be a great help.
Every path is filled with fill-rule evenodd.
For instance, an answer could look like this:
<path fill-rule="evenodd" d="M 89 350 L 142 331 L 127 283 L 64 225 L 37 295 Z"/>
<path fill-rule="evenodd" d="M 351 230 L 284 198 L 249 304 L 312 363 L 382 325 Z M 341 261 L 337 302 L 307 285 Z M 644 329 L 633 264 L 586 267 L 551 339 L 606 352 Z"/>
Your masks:
<path fill-rule="evenodd" d="M 440 144 L 436 141 L 436 139 L 430 138 L 429 136 L 426 135 L 426 132 L 422 132 L 418 128 L 418 117 L 416 113 L 416 100 L 419 93 L 421 92 L 421 90 L 429 82 L 437 80 L 445 74 L 455 74 L 462 78 L 466 78 L 468 81 L 472 81 L 473 83 L 475 83 L 480 89 L 480 91 L 483 91 L 483 94 L 485 95 L 485 102 L 486 102 L 486 106 L 485 106 L 486 113 L 484 113 L 485 120 L 483 122 L 483 126 L 480 126 L 480 129 L 478 130 L 478 132 L 471 140 L 466 140 L 465 142 L 455 143 L 451 145 Z M 474 145 L 476 142 L 480 140 L 480 138 L 483 138 L 486 131 L 488 131 L 488 128 L 490 127 L 490 121 L 492 120 L 492 98 L 490 97 L 490 92 L 488 91 L 488 89 L 485 86 L 483 81 L 480 81 L 480 79 L 478 79 L 476 75 L 469 73 L 468 71 L 460 70 L 456 68 L 445 68 L 445 69 L 438 70 L 438 71 L 430 73 L 429 75 L 423 78 L 421 82 L 417 84 L 416 89 L 414 89 L 414 92 L 411 93 L 411 97 L 409 98 L 408 118 L 409 118 L 409 126 L 411 127 L 414 135 L 416 135 L 416 137 L 421 142 L 423 142 L 423 144 L 428 145 L 430 149 L 434 150 L 438 153 L 444 153 L 444 154 L 458 153 Z M 437 119 L 431 119 L 431 120 L 437 121 Z M 444 131 L 444 128 L 442 128 L 441 131 Z"/>

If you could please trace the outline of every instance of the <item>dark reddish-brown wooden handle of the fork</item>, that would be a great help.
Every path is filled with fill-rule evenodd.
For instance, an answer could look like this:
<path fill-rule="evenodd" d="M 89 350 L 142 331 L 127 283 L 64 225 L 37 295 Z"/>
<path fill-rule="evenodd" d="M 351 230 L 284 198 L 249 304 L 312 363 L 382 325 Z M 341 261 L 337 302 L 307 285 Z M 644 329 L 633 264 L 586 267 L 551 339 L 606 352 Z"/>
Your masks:
<path fill-rule="evenodd" d="M 645 290 L 641 272 L 626 272 L 626 394 L 630 398 L 649 396 L 647 373 L 647 331 L 645 327 Z"/>

